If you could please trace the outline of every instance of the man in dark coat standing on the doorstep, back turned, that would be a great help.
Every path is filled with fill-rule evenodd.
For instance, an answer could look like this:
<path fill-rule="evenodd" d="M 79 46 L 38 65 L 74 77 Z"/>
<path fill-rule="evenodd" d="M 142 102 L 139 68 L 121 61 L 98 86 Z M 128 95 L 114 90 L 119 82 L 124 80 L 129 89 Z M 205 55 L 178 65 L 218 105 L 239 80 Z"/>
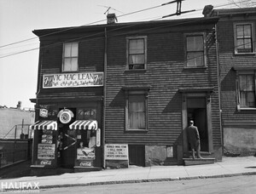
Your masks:
<path fill-rule="evenodd" d="M 195 159 L 195 150 L 196 150 L 196 155 L 198 158 L 201 158 L 201 153 L 200 153 L 200 135 L 198 132 L 198 128 L 194 126 L 194 121 L 189 121 L 189 127 L 187 128 L 187 134 L 188 134 L 188 140 L 189 140 L 189 145 L 192 150 L 192 157 Z"/>

